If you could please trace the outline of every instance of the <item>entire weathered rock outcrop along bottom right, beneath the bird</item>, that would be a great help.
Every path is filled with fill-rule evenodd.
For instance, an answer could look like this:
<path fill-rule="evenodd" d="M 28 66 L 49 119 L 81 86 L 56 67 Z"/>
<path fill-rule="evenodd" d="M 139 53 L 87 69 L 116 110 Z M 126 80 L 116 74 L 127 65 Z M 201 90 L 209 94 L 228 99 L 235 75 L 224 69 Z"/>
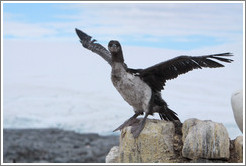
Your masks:
<path fill-rule="evenodd" d="M 137 139 L 133 138 L 130 130 L 130 126 L 122 130 L 119 151 L 110 154 L 114 158 L 118 155 L 119 163 L 242 161 L 242 137 L 230 140 L 221 123 L 188 119 L 183 124 L 178 124 L 147 119 L 145 128 Z M 117 162 L 117 159 L 113 162 Z"/>

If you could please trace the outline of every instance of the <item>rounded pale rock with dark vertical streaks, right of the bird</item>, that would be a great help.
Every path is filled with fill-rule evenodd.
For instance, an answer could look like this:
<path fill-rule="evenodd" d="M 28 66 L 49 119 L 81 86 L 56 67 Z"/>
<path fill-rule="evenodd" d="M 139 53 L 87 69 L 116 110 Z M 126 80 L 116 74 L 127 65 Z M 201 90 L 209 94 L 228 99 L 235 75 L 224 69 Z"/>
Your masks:
<path fill-rule="evenodd" d="M 229 159 L 230 139 L 221 123 L 188 119 L 183 123 L 183 157 Z"/>

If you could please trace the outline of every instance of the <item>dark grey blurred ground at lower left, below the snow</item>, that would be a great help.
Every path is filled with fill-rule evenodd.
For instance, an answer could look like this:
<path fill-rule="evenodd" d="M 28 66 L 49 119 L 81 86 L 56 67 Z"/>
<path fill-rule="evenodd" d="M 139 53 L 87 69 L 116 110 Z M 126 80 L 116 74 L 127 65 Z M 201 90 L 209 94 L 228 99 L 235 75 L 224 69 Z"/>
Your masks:
<path fill-rule="evenodd" d="M 119 136 L 56 128 L 3 129 L 4 163 L 105 163 Z"/>

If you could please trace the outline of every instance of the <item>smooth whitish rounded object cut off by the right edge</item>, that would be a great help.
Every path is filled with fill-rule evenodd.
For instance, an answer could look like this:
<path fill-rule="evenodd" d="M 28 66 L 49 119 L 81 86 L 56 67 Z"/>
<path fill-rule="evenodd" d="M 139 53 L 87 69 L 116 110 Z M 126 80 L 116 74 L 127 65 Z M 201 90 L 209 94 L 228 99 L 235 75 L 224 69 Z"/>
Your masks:
<path fill-rule="evenodd" d="M 241 132 L 243 132 L 243 90 L 239 90 L 232 94 L 231 106 L 237 126 Z"/>

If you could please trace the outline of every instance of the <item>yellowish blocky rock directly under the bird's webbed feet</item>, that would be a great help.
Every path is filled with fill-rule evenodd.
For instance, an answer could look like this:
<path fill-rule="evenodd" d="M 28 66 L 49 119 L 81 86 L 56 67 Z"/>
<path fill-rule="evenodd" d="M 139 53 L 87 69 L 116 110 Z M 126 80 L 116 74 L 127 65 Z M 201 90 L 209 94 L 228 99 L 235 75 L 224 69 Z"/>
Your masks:
<path fill-rule="evenodd" d="M 175 162 L 173 149 L 174 124 L 163 120 L 147 119 L 137 139 L 131 126 L 122 130 L 119 145 L 121 163 Z"/>

